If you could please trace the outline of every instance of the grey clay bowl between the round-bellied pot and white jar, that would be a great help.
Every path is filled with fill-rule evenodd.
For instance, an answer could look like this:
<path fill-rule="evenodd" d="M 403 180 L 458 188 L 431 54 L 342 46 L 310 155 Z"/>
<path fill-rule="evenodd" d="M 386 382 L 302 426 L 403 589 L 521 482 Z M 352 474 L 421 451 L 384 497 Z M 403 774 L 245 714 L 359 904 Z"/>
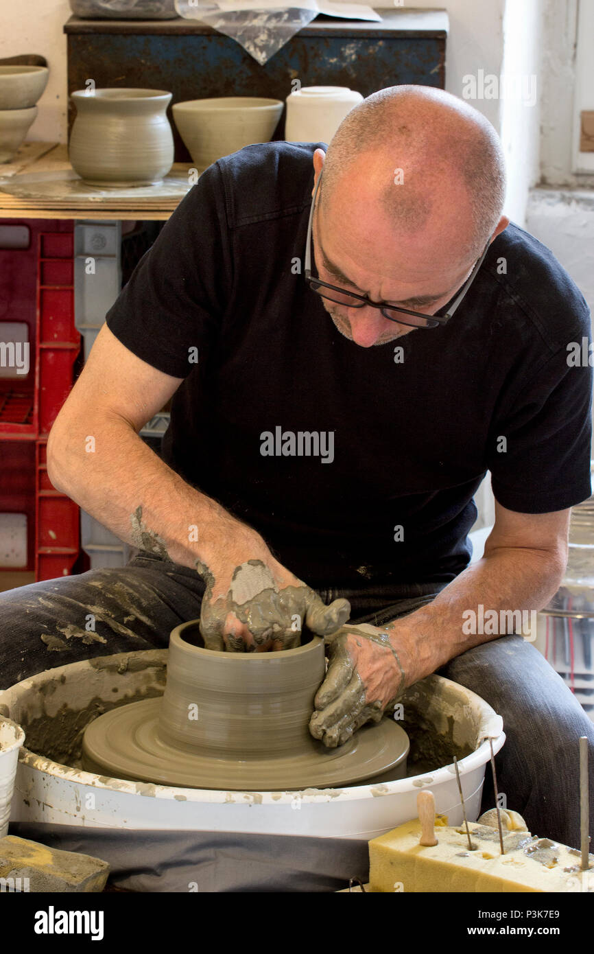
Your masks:
<path fill-rule="evenodd" d="M 198 172 L 254 142 L 270 142 L 282 113 L 279 99 L 222 96 L 173 106 L 179 135 Z"/>

